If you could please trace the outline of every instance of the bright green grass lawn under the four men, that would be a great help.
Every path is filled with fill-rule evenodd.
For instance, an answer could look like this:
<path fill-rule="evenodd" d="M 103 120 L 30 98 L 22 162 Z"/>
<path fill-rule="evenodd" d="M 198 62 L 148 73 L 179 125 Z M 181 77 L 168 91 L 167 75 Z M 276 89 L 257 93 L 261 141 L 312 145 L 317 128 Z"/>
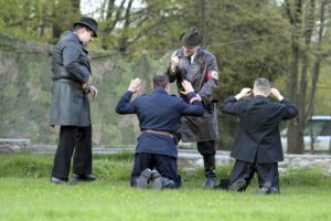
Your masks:
<path fill-rule="evenodd" d="M 0 220 L 330 220 L 331 178 L 318 169 L 281 177 L 280 196 L 201 188 L 203 171 L 181 172 L 184 188 L 138 190 L 128 185 L 131 154 L 96 156 L 98 181 L 49 181 L 52 156 L 0 155 Z M 218 168 L 218 177 L 229 168 Z"/>

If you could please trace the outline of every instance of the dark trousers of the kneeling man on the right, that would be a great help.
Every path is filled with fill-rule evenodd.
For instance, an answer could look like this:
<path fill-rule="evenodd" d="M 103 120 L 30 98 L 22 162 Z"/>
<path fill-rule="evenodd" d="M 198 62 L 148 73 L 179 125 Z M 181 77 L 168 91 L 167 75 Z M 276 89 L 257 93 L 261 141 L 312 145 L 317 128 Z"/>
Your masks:
<path fill-rule="evenodd" d="M 236 160 L 232 176 L 229 178 L 229 183 L 238 179 L 246 180 L 246 187 L 249 185 L 254 172 L 257 172 L 258 176 L 258 186 L 267 181 L 271 182 L 271 187 L 279 190 L 279 173 L 278 173 L 278 164 L 250 164 L 242 160 Z"/>

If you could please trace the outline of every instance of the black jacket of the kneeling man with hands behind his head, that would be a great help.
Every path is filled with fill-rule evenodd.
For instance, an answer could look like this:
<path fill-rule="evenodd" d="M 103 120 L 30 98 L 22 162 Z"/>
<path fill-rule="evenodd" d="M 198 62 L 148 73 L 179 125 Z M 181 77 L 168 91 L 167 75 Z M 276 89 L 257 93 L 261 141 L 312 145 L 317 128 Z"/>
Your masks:
<path fill-rule="evenodd" d="M 267 97 L 255 96 L 238 102 L 231 96 L 221 105 L 221 110 L 239 117 L 231 157 L 252 164 L 284 160 L 278 125 L 298 115 L 289 101 L 270 102 Z"/>

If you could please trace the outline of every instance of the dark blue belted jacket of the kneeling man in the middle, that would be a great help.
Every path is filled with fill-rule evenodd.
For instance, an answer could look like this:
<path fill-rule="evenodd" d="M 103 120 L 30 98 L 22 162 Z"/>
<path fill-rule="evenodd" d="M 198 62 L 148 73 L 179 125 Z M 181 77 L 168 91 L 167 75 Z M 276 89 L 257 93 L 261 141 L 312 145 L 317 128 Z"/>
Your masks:
<path fill-rule="evenodd" d="M 191 105 L 180 97 L 170 96 L 163 88 L 156 88 L 151 94 L 137 97 L 130 103 L 132 93 L 126 92 L 117 104 L 118 114 L 137 114 L 140 129 L 152 129 L 174 134 L 178 130 L 181 116 L 201 116 L 201 102 Z M 188 98 L 195 97 L 189 93 Z M 177 157 L 178 150 L 174 137 L 153 133 L 141 133 L 138 137 L 136 154 L 158 154 Z"/>

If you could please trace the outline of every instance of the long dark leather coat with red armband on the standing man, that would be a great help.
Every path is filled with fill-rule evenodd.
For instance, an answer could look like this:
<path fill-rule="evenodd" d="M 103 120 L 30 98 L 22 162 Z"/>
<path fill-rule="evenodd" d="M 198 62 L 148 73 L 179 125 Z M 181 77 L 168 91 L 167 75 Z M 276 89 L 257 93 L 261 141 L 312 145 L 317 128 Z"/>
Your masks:
<path fill-rule="evenodd" d="M 218 126 L 216 108 L 214 105 L 213 90 L 217 86 L 216 78 L 207 78 L 207 72 L 216 71 L 217 62 L 215 56 L 199 49 L 192 64 L 183 54 L 183 50 L 177 51 L 177 56 L 180 60 L 179 67 L 174 73 L 171 72 L 170 66 L 166 74 L 170 82 L 177 82 L 179 91 L 182 91 L 182 81 L 191 82 L 194 91 L 203 101 L 204 114 L 202 117 L 183 117 L 181 125 L 182 141 L 207 141 L 218 138 Z M 182 95 L 181 95 L 182 96 Z"/>

